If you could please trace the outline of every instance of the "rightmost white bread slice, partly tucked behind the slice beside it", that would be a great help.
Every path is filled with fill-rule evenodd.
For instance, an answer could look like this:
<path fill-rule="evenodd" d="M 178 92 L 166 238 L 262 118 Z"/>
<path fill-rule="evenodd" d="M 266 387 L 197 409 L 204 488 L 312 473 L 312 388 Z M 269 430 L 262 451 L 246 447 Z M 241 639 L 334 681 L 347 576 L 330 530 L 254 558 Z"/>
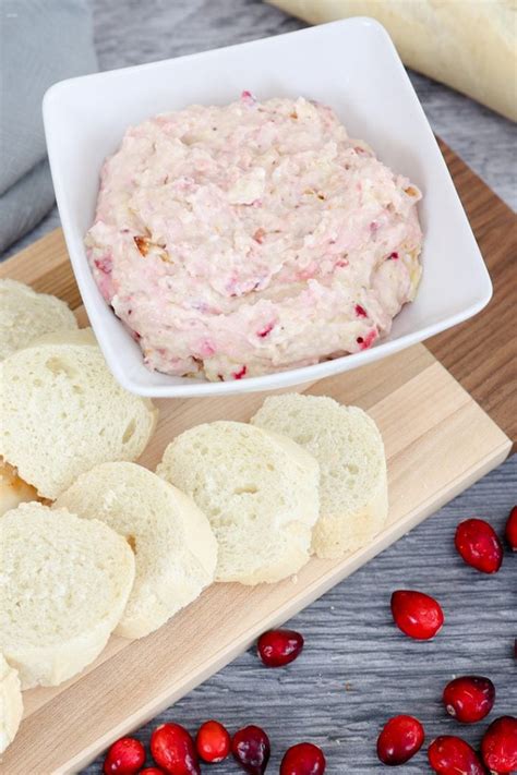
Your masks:
<path fill-rule="evenodd" d="M 272 396 L 251 421 L 289 436 L 321 470 L 321 517 L 314 529 L 318 557 L 337 558 L 368 544 L 387 518 L 384 445 L 377 426 L 358 407 L 325 396 Z"/>

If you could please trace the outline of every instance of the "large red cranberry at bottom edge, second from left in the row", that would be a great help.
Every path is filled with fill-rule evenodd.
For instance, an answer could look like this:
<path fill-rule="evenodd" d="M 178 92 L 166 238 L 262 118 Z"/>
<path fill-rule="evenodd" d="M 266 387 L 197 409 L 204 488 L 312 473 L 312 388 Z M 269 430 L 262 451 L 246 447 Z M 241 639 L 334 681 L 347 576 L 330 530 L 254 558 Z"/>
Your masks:
<path fill-rule="evenodd" d="M 168 775 L 201 775 L 194 741 L 180 724 L 161 724 L 151 736 L 151 753 Z"/>

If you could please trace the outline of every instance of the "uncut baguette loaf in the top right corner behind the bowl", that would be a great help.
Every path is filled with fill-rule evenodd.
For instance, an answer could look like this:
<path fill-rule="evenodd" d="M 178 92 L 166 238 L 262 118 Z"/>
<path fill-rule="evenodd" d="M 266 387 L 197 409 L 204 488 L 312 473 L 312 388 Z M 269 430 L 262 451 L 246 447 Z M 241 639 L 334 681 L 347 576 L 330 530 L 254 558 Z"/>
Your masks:
<path fill-rule="evenodd" d="M 515 0 L 268 0 L 312 24 L 372 16 L 404 63 L 517 120 Z"/>

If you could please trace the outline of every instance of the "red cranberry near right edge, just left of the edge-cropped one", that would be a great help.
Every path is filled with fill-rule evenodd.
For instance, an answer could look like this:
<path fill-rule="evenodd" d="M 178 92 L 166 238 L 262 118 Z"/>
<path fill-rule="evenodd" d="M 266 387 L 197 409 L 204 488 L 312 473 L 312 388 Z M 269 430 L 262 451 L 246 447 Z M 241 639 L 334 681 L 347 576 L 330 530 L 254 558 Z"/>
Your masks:
<path fill-rule="evenodd" d="M 503 545 L 491 524 L 466 519 L 456 528 L 454 544 L 461 558 L 481 573 L 496 573 L 503 562 Z"/>

